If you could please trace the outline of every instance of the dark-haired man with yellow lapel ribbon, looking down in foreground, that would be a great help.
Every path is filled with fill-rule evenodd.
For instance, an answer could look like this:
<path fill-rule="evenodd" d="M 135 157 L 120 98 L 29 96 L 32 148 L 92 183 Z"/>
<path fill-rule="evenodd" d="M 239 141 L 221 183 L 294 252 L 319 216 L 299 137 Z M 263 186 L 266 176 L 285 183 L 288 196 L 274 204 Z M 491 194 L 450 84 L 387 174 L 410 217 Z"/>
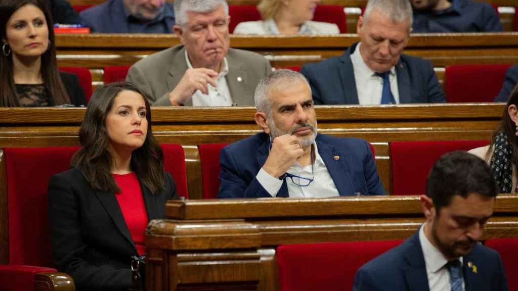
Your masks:
<path fill-rule="evenodd" d="M 421 204 L 426 222 L 410 239 L 363 265 L 354 291 L 504 291 L 500 255 L 478 243 L 493 214 L 496 183 L 479 157 L 443 155 Z"/>

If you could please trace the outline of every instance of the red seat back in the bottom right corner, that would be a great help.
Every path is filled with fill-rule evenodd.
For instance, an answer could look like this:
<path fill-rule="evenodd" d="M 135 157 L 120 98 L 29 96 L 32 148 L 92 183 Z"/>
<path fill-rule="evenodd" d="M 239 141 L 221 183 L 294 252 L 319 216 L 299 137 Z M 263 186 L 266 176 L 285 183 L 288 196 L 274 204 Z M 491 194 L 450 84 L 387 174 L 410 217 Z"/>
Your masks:
<path fill-rule="evenodd" d="M 518 238 L 490 239 L 485 245 L 497 251 L 502 257 L 503 268 L 507 275 L 509 290 L 518 290 Z"/>

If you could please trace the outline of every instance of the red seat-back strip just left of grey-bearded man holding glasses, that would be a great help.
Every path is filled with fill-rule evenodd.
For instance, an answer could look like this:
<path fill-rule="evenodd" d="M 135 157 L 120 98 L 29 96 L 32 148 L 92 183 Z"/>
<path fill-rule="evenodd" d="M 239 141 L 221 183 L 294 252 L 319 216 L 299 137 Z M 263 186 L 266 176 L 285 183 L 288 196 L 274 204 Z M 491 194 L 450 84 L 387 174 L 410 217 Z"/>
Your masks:
<path fill-rule="evenodd" d="M 228 143 L 206 143 L 198 146 L 199 159 L 202 163 L 203 198 L 218 196 L 220 188 L 220 153 Z"/>

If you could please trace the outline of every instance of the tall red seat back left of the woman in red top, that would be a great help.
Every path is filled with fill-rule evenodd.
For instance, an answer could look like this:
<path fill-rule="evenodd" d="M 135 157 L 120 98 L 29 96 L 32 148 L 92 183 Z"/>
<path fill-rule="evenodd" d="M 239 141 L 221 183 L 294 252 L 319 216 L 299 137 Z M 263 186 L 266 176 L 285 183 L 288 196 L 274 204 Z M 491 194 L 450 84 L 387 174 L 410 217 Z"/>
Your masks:
<path fill-rule="evenodd" d="M 6 148 L 9 262 L 52 267 L 47 188 L 79 147 Z"/>

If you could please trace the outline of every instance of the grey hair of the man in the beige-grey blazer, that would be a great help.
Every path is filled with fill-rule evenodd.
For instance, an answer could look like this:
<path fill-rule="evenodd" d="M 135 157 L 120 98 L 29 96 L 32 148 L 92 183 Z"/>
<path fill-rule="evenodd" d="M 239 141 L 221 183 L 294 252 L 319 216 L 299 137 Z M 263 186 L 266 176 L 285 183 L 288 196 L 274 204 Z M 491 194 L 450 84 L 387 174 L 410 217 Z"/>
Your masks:
<path fill-rule="evenodd" d="M 187 23 L 187 11 L 209 13 L 221 5 L 225 15 L 228 16 L 228 4 L 225 0 L 176 0 L 174 4 L 176 24 L 184 26 Z"/>

